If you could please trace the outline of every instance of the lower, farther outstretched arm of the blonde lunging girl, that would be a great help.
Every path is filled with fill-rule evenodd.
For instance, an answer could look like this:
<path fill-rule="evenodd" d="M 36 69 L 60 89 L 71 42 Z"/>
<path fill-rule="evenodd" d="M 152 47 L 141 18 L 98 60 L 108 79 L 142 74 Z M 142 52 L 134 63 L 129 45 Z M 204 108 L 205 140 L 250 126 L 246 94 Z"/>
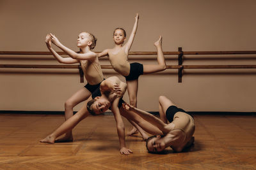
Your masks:
<path fill-rule="evenodd" d="M 52 55 L 55 57 L 55 59 L 58 60 L 58 62 L 63 63 L 63 64 L 74 64 L 74 63 L 79 62 L 78 60 L 72 59 L 70 57 L 65 57 L 65 58 L 61 57 L 61 55 L 59 55 L 57 52 L 55 52 L 55 50 L 51 46 L 52 41 L 51 41 L 50 34 L 47 34 L 47 36 L 45 38 L 45 43 L 46 43 L 46 46 L 49 49 L 49 51 L 52 53 Z"/>

